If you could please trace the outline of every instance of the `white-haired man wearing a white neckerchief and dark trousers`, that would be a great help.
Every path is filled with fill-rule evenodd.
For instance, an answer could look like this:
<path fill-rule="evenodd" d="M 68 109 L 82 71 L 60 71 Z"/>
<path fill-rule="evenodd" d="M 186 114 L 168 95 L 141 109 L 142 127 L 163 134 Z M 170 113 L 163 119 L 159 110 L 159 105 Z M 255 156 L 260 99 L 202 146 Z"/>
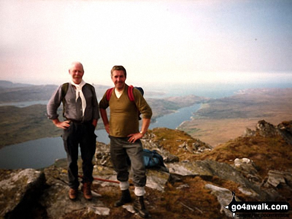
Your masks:
<path fill-rule="evenodd" d="M 86 200 L 92 200 L 91 185 L 93 182 L 92 159 L 96 151 L 95 128 L 99 118 L 95 88 L 82 79 L 83 65 L 72 63 L 70 82 L 60 85 L 47 104 L 47 116 L 54 125 L 64 130 L 62 135 L 67 152 L 69 198 L 76 200 L 78 196 L 78 146 L 82 157 L 82 192 Z M 67 87 L 67 88 L 65 88 Z M 63 102 L 64 121 L 58 119 L 57 109 Z"/>

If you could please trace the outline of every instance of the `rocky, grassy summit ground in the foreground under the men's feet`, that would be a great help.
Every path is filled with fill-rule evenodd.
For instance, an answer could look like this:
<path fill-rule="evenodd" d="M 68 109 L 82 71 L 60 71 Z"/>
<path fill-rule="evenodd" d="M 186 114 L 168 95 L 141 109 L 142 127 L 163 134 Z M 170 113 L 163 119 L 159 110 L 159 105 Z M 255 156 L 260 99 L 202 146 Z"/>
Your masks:
<path fill-rule="evenodd" d="M 166 166 L 147 169 L 145 204 L 153 219 L 233 218 L 225 208 L 233 193 L 238 202 L 285 201 L 292 206 L 292 121 L 278 126 L 259 121 L 255 130 L 247 129 L 243 136 L 215 148 L 166 128 L 149 130 L 142 143 L 157 150 Z M 120 190 L 108 145 L 97 142 L 93 162 L 92 201 L 85 200 L 81 191 L 76 201 L 69 200 L 64 159 L 41 170 L 0 170 L 0 218 L 139 218 L 133 203 L 113 207 Z M 134 197 L 131 179 L 132 175 Z"/>

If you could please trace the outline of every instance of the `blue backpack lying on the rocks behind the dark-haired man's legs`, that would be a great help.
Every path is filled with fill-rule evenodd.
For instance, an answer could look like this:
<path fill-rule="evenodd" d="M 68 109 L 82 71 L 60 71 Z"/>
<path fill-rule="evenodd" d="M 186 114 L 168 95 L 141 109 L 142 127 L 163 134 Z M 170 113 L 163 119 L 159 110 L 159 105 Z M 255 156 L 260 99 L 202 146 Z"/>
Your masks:
<path fill-rule="evenodd" d="M 143 149 L 142 154 L 145 168 L 166 167 L 163 163 L 163 157 L 157 150 Z"/>

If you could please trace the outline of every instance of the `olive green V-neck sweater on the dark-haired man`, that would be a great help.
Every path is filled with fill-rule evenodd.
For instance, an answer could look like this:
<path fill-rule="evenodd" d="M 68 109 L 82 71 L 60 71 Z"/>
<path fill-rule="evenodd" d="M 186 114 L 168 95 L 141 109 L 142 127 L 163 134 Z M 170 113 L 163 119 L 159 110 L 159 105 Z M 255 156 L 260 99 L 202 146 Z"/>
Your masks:
<path fill-rule="evenodd" d="M 99 108 L 106 109 L 109 106 L 109 135 L 113 137 L 127 137 L 139 132 L 138 111 L 143 118 L 151 119 L 152 110 L 139 90 L 133 89 L 134 101 L 128 97 L 128 85 L 122 95 L 117 98 L 113 90 L 109 101 L 106 100 L 106 92 L 99 102 Z"/>

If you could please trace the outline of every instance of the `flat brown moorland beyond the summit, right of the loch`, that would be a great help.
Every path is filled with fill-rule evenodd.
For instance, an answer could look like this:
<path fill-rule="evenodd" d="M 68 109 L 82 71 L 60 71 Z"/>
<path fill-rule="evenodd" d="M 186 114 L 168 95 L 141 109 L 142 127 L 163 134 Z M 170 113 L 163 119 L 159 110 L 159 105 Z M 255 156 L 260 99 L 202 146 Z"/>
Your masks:
<path fill-rule="evenodd" d="M 273 125 L 292 119 L 292 88 L 247 89 L 236 95 L 202 104 L 193 120 L 179 129 L 217 146 L 253 129 L 259 120 Z"/>

